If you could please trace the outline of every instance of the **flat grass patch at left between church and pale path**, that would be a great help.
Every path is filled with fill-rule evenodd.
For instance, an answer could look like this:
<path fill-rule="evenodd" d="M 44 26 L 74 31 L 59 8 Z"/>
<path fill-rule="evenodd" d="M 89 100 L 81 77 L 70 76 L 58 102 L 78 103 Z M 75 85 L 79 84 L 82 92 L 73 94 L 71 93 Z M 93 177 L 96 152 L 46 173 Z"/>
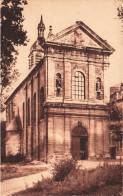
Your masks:
<path fill-rule="evenodd" d="M 8 180 L 8 179 L 12 179 L 12 178 L 19 178 L 19 177 L 23 177 L 23 176 L 27 176 L 27 175 L 31 175 L 31 174 L 36 174 L 39 173 L 41 171 L 45 171 L 47 168 L 43 167 L 39 167 L 39 168 L 35 168 L 35 167 L 23 167 L 20 165 L 6 165 L 6 166 L 2 166 L 1 168 L 1 181 L 3 180 Z"/>

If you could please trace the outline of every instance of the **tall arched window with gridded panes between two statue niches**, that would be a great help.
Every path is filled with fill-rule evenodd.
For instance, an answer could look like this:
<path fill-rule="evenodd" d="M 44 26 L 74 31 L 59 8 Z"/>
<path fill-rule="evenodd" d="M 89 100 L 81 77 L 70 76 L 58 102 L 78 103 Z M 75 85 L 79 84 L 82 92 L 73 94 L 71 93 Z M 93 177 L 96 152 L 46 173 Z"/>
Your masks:
<path fill-rule="evenodd" d="M 85 76 L 80 71 L 76 71 L 73 77 L 73 98 L 85 99 Z"/>

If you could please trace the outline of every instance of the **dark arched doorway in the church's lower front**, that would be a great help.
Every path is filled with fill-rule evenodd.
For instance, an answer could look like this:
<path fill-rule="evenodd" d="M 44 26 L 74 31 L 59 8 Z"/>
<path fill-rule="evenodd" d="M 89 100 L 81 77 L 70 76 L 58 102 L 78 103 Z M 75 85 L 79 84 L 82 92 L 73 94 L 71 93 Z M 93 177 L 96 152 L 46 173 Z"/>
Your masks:
<path fill-rule="evenodd" d="M 81 124 L 72 130 L 71 150 L 73 159 L 88 159 L 88 133 Z"/>

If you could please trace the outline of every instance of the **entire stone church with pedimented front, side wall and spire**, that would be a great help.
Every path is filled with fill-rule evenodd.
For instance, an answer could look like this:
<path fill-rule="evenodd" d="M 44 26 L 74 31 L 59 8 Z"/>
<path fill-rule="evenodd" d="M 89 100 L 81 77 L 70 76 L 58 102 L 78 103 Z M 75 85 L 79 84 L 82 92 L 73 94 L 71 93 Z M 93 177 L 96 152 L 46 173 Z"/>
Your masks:
<path fill-rule="evenodd" d="M 30 72 L 6 101 L 6 154 L 29 160 L 110 157 L 105 70 L 114 49 L 82 21 L 44 38 L 42 17 Z"/>

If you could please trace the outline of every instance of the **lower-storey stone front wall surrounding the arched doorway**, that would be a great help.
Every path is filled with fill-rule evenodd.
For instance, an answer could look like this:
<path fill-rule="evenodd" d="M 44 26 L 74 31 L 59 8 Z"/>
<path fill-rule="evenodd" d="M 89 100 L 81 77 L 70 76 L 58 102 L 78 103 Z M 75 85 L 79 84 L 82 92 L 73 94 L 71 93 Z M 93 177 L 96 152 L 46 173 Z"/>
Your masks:
<path fill-rule="evenodd" d="M 109 132 L 107 111 L 89 108 L 49 108 L 48 109 L 48 160 L 59 156 L 72 156 L 72 130 L 81 122 L 88 132 L 88 159 L 109 157 Z M 78 114 L 78 115 L 76 115 Z M 85 115 L 86 114 L 86 115 Z M 99 117 L 100 116 L 100 117 Z"/>

